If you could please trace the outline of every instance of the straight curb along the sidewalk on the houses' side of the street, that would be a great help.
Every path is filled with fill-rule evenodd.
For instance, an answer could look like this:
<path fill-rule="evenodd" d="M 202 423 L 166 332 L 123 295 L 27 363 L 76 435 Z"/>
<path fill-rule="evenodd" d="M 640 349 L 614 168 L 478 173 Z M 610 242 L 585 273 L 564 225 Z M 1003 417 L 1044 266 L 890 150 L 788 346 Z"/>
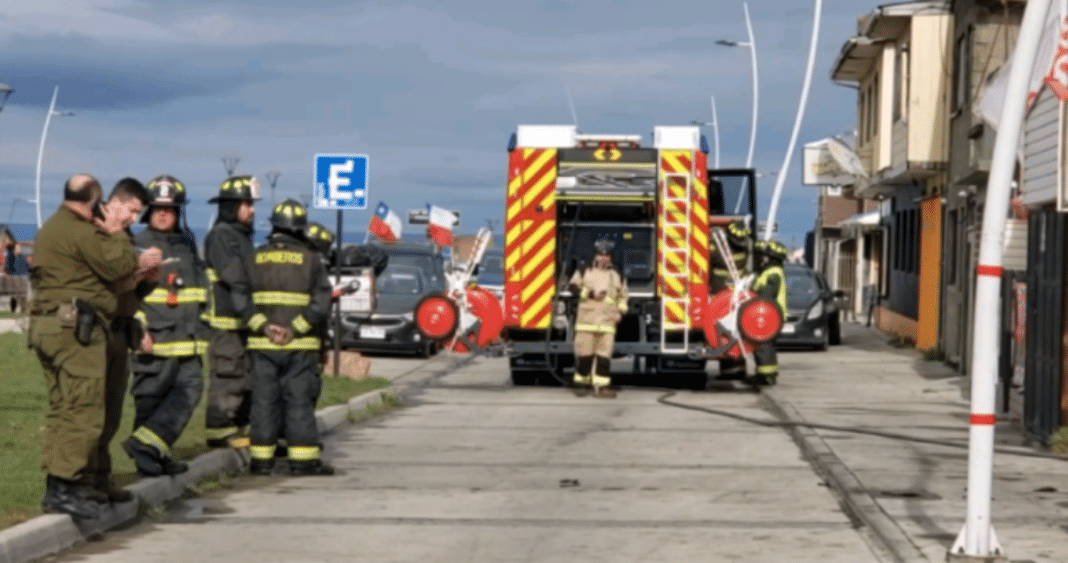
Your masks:
<path fill-rule="evenodd" d="M 881 547 L 890 553 L 897 563 L 930 563 L 930 560 L 909 536 L 897 526 L 897 522 L 882 510 L 863 483 L 844 464 L 819 434 L 802 424 L 807 423 L 804 417 L 787 401 L 778 389 L 765 388 L 761 393 L 774 415 L 781 420 L 796 423 L 787 429 L 794 441 L 804 452 L 805 457 L 826 479 L 828 485 L 838 497 L 846 514 L 857 522 L 861 522 L 871 531 L 870 536 L 877 539 Z"/>

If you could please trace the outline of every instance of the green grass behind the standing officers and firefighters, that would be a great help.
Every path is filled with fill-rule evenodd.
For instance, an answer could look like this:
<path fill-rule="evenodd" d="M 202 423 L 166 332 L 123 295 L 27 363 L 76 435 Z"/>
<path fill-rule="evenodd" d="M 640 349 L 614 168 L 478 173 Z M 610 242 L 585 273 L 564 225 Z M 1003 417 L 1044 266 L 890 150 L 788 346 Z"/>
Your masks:
<path fill-rule="evenodd" d="M 206 362 L 205 362 L 206 365 Z M 389 380 L 368 377 L 324 377 L 318 408 L 339 405 L 361 393 L 389 386 Z M 204 433 L 204 407 L 207 397 L 205 369 L 204 393 L 189 424 L 171 448 L 179 459 L 192 459 L 207 451 Z M 45 494 L 45 474 L 41 469 L 41 438 L 48 408 L 45 377 L 35 354 L 26 347 L 26 337 L 17 332 L 0 333 L 0 529 L 41 514 Z M 122 450 L 122 441 L 134 431 L 134 400 L 126 394 L 123 422 L 111 441 L 114 481 L 128 485 L 140 479 L 134 462 Z M 207 486 L 207 485 L 205 485 Z"/>

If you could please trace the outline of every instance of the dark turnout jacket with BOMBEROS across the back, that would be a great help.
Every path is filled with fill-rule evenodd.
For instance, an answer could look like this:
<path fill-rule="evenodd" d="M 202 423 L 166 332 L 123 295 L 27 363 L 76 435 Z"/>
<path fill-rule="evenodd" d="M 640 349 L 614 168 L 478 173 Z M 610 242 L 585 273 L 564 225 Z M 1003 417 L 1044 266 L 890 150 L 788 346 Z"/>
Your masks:
<path fill-rule="evenodd" d="M 272 233 L 257 248 L 252 272 L 254 313 L 247 319 L 250 350 L 310 350 L 321 345 L 319 335 L 330 314 L 330 280 L 318 252 L 285 233 Z M 268 325 L 293 331 L 288 344 L 271 344 L 263 335 Z"/>

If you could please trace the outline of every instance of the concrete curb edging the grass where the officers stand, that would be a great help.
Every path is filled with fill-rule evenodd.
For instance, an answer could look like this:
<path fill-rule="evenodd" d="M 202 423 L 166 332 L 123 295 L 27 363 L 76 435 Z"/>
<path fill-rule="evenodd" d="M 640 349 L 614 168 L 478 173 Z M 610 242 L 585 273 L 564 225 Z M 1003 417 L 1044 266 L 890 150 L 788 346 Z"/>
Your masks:
<path fill-rule="evenodd" d="M 329 434 L 346 423 L 348 413 L 384 403 L 386 395 L 399 396 L 394 386 L 357 395 L 344 405 L 315 411 L 320 434 Z M 213 450 L 189 462 L 189 470 L 178 475 L 142 478 L 126 487 L 135 500 L 111 504 L 93 520 L 75 520 L 66 514 L 44 514 L 0 530 L 0 563 L 28 563 L 88 542 L 106 531 L 140 520 L 141 506 L 162 504 L 180 497 L 189 485 L 220 471 L 239 473 L 249 466 L 249 454 L 238 450 Z"/>

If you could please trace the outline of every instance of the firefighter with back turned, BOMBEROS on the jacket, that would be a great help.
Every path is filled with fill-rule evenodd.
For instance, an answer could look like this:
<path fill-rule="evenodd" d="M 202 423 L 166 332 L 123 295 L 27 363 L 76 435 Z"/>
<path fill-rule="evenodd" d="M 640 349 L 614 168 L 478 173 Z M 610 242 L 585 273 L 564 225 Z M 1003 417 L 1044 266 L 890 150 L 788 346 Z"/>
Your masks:
<path fill-rule="evenodd" d="M 252 356 L 250 471 L 270 474 L 285 420 L 289 473 L 331 475 L 320 458 L 315 400 L 320 389 L 321 327 L 330 313 L 330 280 L 302 232 L 308 212 L 294 200 L 274 206 L 266 245 L 251 263 L 254 314 L 247 319 Z"/>

